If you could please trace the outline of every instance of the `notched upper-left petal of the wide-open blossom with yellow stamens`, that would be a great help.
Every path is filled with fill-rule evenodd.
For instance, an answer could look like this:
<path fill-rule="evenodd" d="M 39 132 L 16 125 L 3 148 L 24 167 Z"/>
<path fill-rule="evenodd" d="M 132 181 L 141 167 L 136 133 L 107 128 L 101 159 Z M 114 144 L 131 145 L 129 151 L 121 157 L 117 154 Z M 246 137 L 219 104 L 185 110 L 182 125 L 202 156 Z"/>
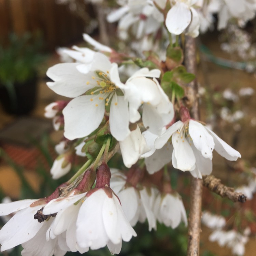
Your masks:
<path fill-rule="evenodd" d="M 87 85 L 88 78 L 80 73 L 76 67 L 78 63 L 60 63 L 49 68 L 46 75 L 54 82 L 47 82 L 47 86 L 55 93 L 69 98 L 77 97 L 94 86 Z M 88 74 L 90 77 L 92 74 Z"/>

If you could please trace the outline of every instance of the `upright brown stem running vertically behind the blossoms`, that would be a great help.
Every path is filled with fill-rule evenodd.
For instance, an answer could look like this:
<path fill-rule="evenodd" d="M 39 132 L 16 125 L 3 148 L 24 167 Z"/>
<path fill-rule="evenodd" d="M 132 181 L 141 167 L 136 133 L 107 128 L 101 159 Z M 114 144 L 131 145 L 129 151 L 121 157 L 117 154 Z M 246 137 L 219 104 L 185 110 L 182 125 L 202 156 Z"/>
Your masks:
<path fill-rule="evenodd" d="M 195 39 L 186 36 L 185 41 L 185 64 L 187 72 L 196 73 L 196 43 Z M 185 103 L 191 108 L 191 116 L 196 120 L 200 119 L 198 108 L 198 87 L 196 80 L 186 86 Z M 191 179 L 190 191 L 190 213 L 188 225 L 188 248 L 187 256 L 198 256 L 200 250 L 201 232 L 201 205 L 202 205 L 202 180 Z"/>

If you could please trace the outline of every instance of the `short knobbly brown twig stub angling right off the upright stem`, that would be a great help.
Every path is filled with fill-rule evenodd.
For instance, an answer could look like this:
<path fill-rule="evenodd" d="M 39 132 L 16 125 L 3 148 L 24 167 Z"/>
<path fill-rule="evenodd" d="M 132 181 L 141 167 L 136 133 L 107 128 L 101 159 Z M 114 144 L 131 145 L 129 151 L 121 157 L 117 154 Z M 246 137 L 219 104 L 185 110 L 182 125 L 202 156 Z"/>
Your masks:
<path fill-rule="evenodd" d="M 227 187 L 221 183 L 220 179 L 213 175 L 203 175 L 203 185 L 221 197 L 227 197 L 233 202 L 244 203 L 246 196 L 243 193 L 235 192 L 234 188 Z"/>

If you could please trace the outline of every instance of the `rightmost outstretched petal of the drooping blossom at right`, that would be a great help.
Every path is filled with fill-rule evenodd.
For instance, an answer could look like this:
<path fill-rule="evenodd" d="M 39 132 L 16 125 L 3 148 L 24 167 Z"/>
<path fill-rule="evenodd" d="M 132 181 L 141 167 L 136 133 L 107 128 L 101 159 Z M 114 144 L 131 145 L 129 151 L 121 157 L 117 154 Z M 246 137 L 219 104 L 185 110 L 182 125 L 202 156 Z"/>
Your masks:
<path fill-rule="evenodd" d="M 212 135 L 215 146 L 214 149 L 218 154 L 225 157 L 227 160 L 236 161 L 238 157 L 241 157 L 240 153 L 236 151 L 234 148 L 229 146 L 224 140 L 219 138 L 213 131 L 209 128 L 205 127 L 208 132 Z"/>

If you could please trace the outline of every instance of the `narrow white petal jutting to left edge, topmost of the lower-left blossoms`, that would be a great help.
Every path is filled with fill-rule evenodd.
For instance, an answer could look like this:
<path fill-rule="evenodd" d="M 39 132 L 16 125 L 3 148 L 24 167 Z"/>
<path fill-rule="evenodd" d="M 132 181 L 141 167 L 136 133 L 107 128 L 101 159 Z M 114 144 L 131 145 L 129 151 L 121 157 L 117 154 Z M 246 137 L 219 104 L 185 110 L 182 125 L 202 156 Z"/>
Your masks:
<path fill-rule="evenodd" d="M 29 207 L 29 205 L 38 199 L 24 199 L 16 202 L 1 203 L 0 204 L 0 216 L 8 215 L 10 213 L 22 210 Z"/>

